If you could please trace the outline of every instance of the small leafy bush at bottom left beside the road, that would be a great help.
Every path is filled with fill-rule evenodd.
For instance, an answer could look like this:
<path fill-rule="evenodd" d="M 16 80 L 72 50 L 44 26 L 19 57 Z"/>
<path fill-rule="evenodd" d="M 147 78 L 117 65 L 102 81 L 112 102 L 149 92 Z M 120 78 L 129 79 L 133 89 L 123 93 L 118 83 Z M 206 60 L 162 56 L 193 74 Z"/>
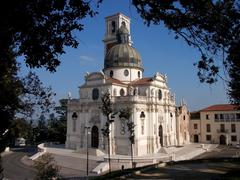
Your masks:
<path fill-rule="evenodd" d="M 44 154 L 34 161 L 33 167 L 37 170 L 36 180 L 60 179 L 60 167 L 56 165 L 50 154 Z"/>

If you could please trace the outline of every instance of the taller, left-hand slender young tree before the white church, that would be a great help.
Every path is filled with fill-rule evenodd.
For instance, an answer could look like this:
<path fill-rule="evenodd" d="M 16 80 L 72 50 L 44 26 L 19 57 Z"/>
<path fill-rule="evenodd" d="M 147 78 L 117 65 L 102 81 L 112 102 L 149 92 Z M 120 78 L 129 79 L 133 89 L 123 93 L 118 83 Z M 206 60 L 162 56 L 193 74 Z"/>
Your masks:
<path fill-rule="evenodd" d="M 110 158 L 110 125 L 113 123 L 113 118 L 116 112 L 113 111 L 113 105 L 110 98 L 110 93 L 106 92 L 101 97 L 102 105 L 101 110 L 103 115 L 106 117 L 106 123 L 104 128 L 102 129 L 102 134 L 105 138 L 107 138 L 108 143 L 108 164 L 109 164 L 109 173 L 111 173 L 111 158 Z"/>

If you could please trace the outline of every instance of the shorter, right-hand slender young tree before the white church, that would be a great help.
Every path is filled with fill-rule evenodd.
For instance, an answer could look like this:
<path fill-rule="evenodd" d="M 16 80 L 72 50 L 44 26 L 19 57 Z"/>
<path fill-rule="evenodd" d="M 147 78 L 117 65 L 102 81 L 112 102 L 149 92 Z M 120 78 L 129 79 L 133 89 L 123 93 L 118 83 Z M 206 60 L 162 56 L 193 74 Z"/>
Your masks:
<path fill-rule="evenodd" d="M 135 124 L 130 117 L 132 115 L 132 110 L 129 107 L 123 108 L 120 110 L 119 118 L 123 118 L 126 120 L 128 133 L 129 133 L 129 141 L 131 143 L 131 161 L 132 161 L 132 168 L 133 168 L 133 144 L 135 143 Z"/>

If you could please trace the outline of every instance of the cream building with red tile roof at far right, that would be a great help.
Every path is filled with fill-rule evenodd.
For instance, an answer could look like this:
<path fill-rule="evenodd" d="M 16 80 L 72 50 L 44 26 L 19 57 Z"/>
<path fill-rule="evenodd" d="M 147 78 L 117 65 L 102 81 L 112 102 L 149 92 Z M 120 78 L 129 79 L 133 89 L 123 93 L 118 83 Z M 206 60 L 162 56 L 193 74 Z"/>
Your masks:
<path fill-rule="evenodd" d="M 192 142 L 236 145 L 240 142 L 240 109 L 218 104 L 191 113 Z"/>

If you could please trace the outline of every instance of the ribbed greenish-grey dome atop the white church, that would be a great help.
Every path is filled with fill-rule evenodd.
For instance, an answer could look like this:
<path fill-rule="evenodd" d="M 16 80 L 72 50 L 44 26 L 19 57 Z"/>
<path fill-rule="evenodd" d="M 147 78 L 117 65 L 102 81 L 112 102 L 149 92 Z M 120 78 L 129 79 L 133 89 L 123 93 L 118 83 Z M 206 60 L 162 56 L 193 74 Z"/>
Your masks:
<path fill-rule="evenodd" d="M 135 67 L 142 69 L 139 53 L 129 44 L 122 43 L 113 46 L 105 56 L 104 68 Z"/>

